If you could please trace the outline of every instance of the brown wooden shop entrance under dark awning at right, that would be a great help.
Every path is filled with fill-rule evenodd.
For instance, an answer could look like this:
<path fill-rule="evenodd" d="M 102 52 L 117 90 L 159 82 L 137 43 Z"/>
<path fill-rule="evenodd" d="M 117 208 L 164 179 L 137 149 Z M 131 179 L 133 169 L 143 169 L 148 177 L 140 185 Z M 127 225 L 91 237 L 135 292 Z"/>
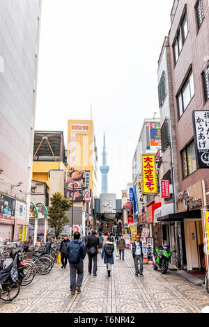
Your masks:
<path fill-rule="evenodd" d="M 187 270 L 205 270 L 203 252 L 203 227 L 201 220 L 185 221 L 185 245 L 187 253 Z"/>

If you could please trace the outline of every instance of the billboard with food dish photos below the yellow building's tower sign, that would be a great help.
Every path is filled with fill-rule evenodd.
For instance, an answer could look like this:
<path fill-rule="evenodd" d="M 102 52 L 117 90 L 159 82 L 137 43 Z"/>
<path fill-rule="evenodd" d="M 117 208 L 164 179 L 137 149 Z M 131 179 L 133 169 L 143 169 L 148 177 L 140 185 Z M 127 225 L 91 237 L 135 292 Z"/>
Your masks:
<path fill-rule="evenodd" d="M 74 193 L 73 200 L 75 202 L 83 201 L 84 190 L 81 188 L 83 184 L 84 173 L 82 170 L 68 170 L 65 175 L 65 198 L 72 201 L 72 193 Z M 81 189 L 75 190 L 72 192 L 72 189 Z"/>

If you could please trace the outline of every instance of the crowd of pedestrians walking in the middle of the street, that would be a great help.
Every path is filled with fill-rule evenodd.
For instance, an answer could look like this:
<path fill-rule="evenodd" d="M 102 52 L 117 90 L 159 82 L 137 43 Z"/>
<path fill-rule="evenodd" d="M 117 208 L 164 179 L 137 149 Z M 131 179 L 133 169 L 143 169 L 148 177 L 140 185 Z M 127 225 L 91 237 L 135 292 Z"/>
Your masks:
<path fill-rule="evenodd" d="M 81 293 L 82 281 L 84 278 L 84 258 L 88 255 L 88 274 L 97 276 L 98 271 L 98 254 L 101 255 L 104 264 L 107 267 L 107 276 L 111 276 L 111 266 L 114 264 L 114 241 L 119 252 L 119 260 L 125 258 L 125 239 L 123 234 L 108 234 L 92 230 L 88 232 L 85 241 L 81 241 L 81 234 L 75 232 L 71 239 L 65 235 L 61 242 L 59 252 L 61 253 L 61 268 L 65 269 L 67 262 L 70 264 L 70 292 Z M 131 246 L 132 256 L 134 259 L 135 275 L 143 276 L 143 250 L 139 235 Z M 140 269 L 139 269 L 140 264 Z"/>

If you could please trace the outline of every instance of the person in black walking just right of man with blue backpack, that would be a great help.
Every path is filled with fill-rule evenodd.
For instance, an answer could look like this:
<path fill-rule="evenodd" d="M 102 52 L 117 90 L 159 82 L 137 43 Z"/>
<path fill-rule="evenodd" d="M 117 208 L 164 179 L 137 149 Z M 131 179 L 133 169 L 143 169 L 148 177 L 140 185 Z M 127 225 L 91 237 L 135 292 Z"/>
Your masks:
<path fill-rule="evenodd" d="M 96 232 L 93 230 L 91 236 L 86 239 L 86 252 L 88 253 L 88 273 L 91 275 L 92 261 L 93 261 L 93 276 L 97 276 L 98 271 L 98 245 L 99 239 L 95 236 Z"/>

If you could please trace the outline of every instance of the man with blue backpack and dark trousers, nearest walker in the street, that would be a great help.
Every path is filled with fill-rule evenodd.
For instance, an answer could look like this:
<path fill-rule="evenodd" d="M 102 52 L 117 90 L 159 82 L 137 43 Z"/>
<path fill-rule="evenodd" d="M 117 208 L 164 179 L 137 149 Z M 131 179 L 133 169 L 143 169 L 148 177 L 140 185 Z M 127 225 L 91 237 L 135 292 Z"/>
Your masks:
<path fill-rule="evenodd" d="M 75 291 L 81 293 L 82 282 L 84 278 L 84 258 L 86 257 L 86 248 L 80 241 L 81 234 L 74 233 L 74 239 L 68 243 L 66 255 L 70 264 L 70 291 L 75 295 Z M 77 273 L 77 280 L 76 280 Z"/>

